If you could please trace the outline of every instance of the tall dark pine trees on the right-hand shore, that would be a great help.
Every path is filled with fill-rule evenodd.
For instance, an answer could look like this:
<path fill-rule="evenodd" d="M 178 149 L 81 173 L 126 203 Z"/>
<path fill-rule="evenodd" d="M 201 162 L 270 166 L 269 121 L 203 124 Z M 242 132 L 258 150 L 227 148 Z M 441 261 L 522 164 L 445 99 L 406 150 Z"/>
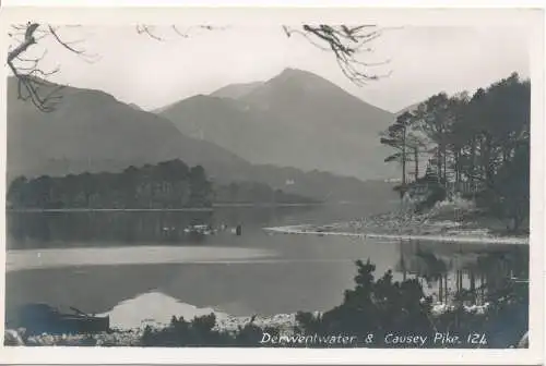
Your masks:
<path fill-rule="evenodd" d="M 531 83 L 517 73 L 473 95 L 431 96 L 400 114 L 381 137 L 385 161 L 402 168 L 404 192 L 419 182 L 419 161 L 444 191 L 473 187 L 478 206 L 512 231 L 529 218 Z M 441 195 L 438 195 L 441 197 Z"/>

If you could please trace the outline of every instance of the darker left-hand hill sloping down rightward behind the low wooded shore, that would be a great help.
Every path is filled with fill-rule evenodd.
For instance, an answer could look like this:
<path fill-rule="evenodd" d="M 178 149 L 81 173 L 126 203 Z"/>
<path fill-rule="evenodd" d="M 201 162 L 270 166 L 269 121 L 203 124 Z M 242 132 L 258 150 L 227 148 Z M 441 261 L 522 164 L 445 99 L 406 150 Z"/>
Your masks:
<path fill-rule="evenodd" d="M 191 166 L 202 164 L 218 184 L 259 182 L 316 199 L 377 198 L 376 188 L 370 191 L 356 179 L 252 166 L 223 147 L 180 133 L 169 120 L 136 110 L 104 91 L 66 87 L 57 110 L 44 113 L 17 99 L 15 80 L 8 82 L 8 183 L 20 175 L 119 172 L 129 166 L 179 158 Z M 215 100 L 221 106 L 226 102 Z M 200 97 L 193 102 L 199 103 Z"/>

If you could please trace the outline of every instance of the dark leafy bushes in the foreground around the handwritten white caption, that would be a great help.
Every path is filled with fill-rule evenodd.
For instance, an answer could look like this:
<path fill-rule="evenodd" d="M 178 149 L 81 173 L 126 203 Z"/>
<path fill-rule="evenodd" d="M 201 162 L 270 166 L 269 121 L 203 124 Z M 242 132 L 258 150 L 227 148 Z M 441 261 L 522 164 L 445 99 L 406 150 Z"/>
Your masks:
<path fill-rule="evenodd" d="M 391 271 L 375 279 L 376 269 L 369 260 L 356 263 L 358 273 L 355 288 L 345 291 L 344 301 L 335 308 L 316 316 L 298 313 L 294 332 L 301 335 L 347 334 L 357 337 L 358 342 L 334 345 L 324 343 L 286 343 L 284 346 L 371 346 L 414 347 L 415 344 L 393 344 L 385 342 L 385 334 L 415 334 L 428 337 L 427 347 L 508 347 L 517 344 L 529 329 L 529 291 L 509 280 L 487 295 L 490 306 L 487 312 L 473 310 L 463 298 L 475 301 L 476 293 L 468 290 L 455 296 L 453 306 L 444 306 L 442 312 L 432 309 L 432 298 L 424 294 L 416 279 L 393 281 Z M 474 298 L 473 298 L 474 297 Z M 482 307 L 482 308 L 485 308 Z M 252 322 L 233 333 L 214 329 L 215 316 L 209 315 L 186 321 L 173 317 L 171 324 L 159 330 L 146 328 L 142 337 L 144 346 L 261 346 L 263 332 L 278 335 L 280 329 L 260 328 Z M 485 334 L 483 342 L 460 344 L 434 343 L 436 333 Z M 366 342 L 373 334 L 373 341 Z M 462 335 L 461 335 L 462 337 Z M 480 340 L 478 338 L 478 340 Z M 274 344 L 265 344 L 271 346 Z M 276 346 L 280 346 L 278 344 Z"/>

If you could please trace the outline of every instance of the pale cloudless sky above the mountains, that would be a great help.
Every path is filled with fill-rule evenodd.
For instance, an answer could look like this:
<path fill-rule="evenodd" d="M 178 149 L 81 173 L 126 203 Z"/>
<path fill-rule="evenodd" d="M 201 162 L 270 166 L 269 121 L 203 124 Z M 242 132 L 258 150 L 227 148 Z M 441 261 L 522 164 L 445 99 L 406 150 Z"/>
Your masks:
<path fill-rule="evenodd" d="M 50 80 L 71 86 L 102 89 L 117 99 L 150 110 L 197 94 L 209 94 L 232 83 L 266 81 L 286 68 L 313 72 L 363 100 L 399 111 L 447 91 L 473 91 L 512 72 L 530 72 L 526 35 L 515 27 L 405 26 L 387 29 L 369 46 L 367 62 L 389 61 L 371 69 L 388 77 L 356 86 L 332 53 L 302 37 L 286 37 L 282 27 L 228 26 L 203 30 L 179 26 L 157 28 L 156 40 L 132 26 L 61 28 L 64 40 L 82 40 L 92 62 L 43 39 L 32 52 L 47 49 L 43 69 L 60 66 Z"/>

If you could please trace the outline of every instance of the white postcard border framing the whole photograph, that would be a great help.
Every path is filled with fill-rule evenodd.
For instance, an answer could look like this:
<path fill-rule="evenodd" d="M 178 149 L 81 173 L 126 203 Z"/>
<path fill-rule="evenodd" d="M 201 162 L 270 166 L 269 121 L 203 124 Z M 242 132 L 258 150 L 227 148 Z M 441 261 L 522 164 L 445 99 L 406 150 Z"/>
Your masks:
<path fill-rule="evenodd" d="M 36 1 L 37 2 L 37 1 Z M 50 1 L 52 2 L 52 1 Z M 67 3 L 58 1 L 58 3 Z M 81 1 L 84 3 L 85 1 Z M 97 3 L 98 1 L 94 1 Z M 41 4 L 43 2 L 40 2 Z M 71 4 L 75 1 L 71 1 Z M 119 1 L 118 1 L 119 3 Z M 324 1 L 321 2 L 322 5 Z M 383 2 L 381 2 L 383 3 Z M 429 7 L 435 4 L 428 1 Z M 459 2 L 460 3 L 460 2 Z M 468 2 L 470 3 L 470 2 Z M 478 2 L 472 2 L 473 4 Z M 524 3 L 524 2 L 523 2 Z M 523 3 L 519 3 L 520 7 Z M 153 4 L 153 3 L 150 3 Z M 300 3 L 296 3 L 300 4 Z M 330 5 L 335 4 L 333 1 Z M 352 2 L 354 4 L 354 2 Z M 88 5 L 88 1 L 85 3 Z M 500 4 L 502 5 L 502 3 Z M 506 5 L 506 3 L 505 3 Z M 525 9 L 54 9 L 9 8 L 0 11 L 1 45 L 7 49 L 5 25 L 28 19 L 59 24 L 123 25 L 135 23 L 199 23 L 278 25 L 321 20 L 323 22 L 377 21 L 385 25 L 472 25 L 524 26 L 530 30 L 532 80 L 532 202 L 530 265 L 530 343 L 527 350 L 280 350 L 280 349 L 134 349 L 134 347 L 4 347 L 0 362 L 8 364 L 539 364 L 544 352 L 544 10 Z M 7 66 L 2 69 L 7 73 Z M 5 77 L 5 75 L 4 75 Z M 5 83 L 0 87 L 0 114 L 7 115 Z M 5 120 L 2 123 L 1 169 L 5 172 Z M 0 180 L 5 206 L 5 181 Z M 5 211 L 1 210 L 5 232 Z M 5 240 L 1 241 L 0 295 L 5 288 Z M 3 327 L 3 302 L 0 318 Z M 3 332 L 2 332 L 3 334 Z M 2 341 L 3 344 L 3 341 Z"/>

